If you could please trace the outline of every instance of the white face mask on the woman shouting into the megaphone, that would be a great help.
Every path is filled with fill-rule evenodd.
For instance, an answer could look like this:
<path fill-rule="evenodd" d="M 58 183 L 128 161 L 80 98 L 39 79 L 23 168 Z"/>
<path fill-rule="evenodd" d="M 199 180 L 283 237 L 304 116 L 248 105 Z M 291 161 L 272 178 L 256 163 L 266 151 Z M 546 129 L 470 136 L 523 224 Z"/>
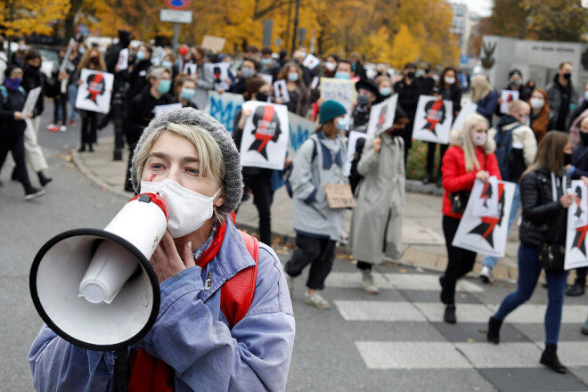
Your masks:
<path fill-rule="evenodd" d="M 159 193 L 166 200 L 169 208 L 167 230 L 173 238 L 184 237 L 200 229 L 212 216 L 213 202 L 220 191 L 218 189 L 214 196 L 208 197 L 186 189 L 169 178 L 158 183 L 141 182 L 142 193 Z"/>

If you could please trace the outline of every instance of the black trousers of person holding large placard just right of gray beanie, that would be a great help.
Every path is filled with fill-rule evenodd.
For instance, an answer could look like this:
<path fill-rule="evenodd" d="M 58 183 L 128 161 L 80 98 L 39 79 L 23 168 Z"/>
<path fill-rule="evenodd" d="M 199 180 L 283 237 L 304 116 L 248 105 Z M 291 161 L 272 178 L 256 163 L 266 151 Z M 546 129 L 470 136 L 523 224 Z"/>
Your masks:
<path fill-rule="evenodd" d="M 272 205 L 271 170 L 260 170 L 259 174 L 246 176 L 245 186 L 253 193 L 253 204 L 259 215 L 259 240 L 272 246 Z"/>

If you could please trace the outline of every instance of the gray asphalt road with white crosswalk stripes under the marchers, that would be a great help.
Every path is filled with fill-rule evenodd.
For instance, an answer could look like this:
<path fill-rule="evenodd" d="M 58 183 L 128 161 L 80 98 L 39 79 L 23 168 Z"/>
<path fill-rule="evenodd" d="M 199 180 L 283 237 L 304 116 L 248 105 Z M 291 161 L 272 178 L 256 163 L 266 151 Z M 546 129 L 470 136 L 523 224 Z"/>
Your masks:
<path fill-rule="evenodd" d="M 47 106 L 39 135 L 53 176 L 47 194 L 25 201 L 8 167 L 0 172 L 0 391 L 33 390 L 27 355 L 42 323 L 30 300 L 29 268 L 37 250 L 63 231 L 104 227 L 126 202 L 73 167 L 68 151 L 78 147 L 78 127 L 45 132 Z M 289 249 L 277 252 L 282 262 L 290 257 Z M 382 289 L 370 296 L 359 289 L 355 265 L 341 256 L 324 290 L 332 304 L 326 311 L 303 302 L 306 274 L 295 280 L 292 299 L 297 336 L 288 391 L 588 390 L 588 339 L 579 333 L 585 297 L 566 299 L 559 350 L 571 373 L 559 375 L 538 363 L 546 304 L 541 287 L 507 318 L 502 343 L 493 346 L 485 341 L 486 321 L 512 284 L 463 281 L 458 323 L 447 325 L 437 274 L 379 266 Z"/>

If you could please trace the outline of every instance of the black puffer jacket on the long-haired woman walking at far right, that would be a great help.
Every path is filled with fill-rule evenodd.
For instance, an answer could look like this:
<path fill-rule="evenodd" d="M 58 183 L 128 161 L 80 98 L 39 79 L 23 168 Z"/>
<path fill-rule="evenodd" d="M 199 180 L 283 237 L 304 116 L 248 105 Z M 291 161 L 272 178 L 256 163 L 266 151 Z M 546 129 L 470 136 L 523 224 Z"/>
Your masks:
<path fill-rule="evenodd" d="M 559 202 L 563 195 L 562 181 L 560 176 L 556 178 L 559 183 L 556 184 L 557 201 L 553 200 L 549 168 L 542 167 L 530 172 L 520 181 L 523 222 L 519 229 L 519 239 L 527 246 L 538 249 L 543 244 L 566 244 L 568 208 L 563 208 Z M 566 184 L 570 184 L 568 176 Z"/>

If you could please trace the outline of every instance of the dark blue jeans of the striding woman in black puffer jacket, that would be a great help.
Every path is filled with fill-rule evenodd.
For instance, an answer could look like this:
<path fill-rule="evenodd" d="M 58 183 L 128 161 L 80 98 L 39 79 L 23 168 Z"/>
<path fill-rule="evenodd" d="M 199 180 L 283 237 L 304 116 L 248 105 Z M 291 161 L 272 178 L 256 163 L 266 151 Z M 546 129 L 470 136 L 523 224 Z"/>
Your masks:
<path fill-rule="evenodd" d="M 519 286 L 502 301 L 494 318 L 504 320 L 510 312 L 527 302 L 533 295 L 541 274 L 539 266 L 539 250 L 525 245 L 519 246 Z M 566 271 L 545 270 L 547 278 L 547 310 L 545 311 L 545 344 L 556 345 L 561 326 L 561 310 L 568 273 Z"/>

